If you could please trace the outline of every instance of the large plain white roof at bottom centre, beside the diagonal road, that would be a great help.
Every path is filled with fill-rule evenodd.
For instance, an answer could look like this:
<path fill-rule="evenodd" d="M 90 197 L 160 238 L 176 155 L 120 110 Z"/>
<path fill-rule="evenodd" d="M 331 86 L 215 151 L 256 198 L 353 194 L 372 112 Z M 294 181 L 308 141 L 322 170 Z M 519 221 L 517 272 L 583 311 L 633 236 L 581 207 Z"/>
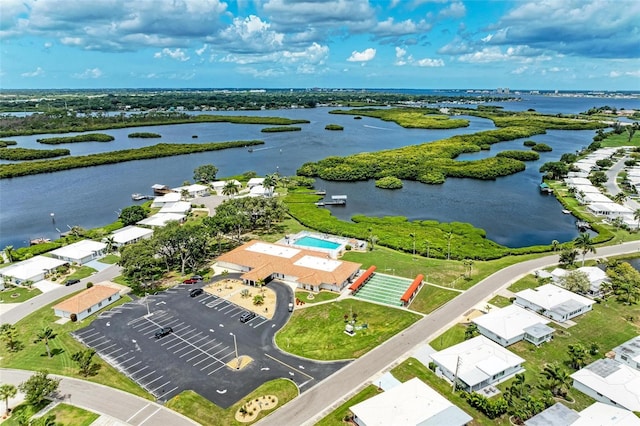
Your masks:
<path fill-rule="evenodd" d="M 416 377 L 349 409 L 359 426 L 462 426 L 473 420 Z"/>

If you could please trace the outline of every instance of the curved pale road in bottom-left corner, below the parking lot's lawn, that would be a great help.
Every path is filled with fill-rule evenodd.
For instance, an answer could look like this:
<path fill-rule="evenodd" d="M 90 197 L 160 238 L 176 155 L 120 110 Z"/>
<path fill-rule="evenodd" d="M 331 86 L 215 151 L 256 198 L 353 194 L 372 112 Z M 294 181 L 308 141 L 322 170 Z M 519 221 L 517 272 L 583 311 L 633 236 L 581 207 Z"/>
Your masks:
<path fill-rule="evenodd" d="M 0 381 L 19 385 L 26 381 L 32 371 L 0 370 Z M 133 426 L 192 426 L 198 423 L 176 413 L 160 404 L 144 398 L 122 392 L 107 386 L 77 380 L 69 377 L 61 378 L 58 395 L 63 402 L 80 408 L 91 410 L 99 414 L 106 414 L 126 424 Z"/>

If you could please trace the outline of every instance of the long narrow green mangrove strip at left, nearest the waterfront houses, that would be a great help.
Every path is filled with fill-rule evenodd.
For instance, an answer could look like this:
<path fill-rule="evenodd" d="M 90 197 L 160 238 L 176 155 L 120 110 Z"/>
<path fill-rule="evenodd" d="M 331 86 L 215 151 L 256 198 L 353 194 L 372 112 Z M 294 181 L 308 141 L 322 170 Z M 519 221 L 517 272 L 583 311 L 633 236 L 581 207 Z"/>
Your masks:
<path fill-rule="evenodd" d="M 0 164 L 0 179 L 35 175 L 38 173 L 52 173 L 80 167 L 99 166 L 102 164 L 114 164 L 122 163 L 125 161 L 170 157 L 173 155 L 192 154 L 195 152 L 216 151 L 220 149 L 240 148 L 261 144 L 264 144 L 264 142 L 258 140 L 213 142 L 203 144 L 161 143 L 144 148 L 125 149 L 121 151 L 104 152 L 100 154 L 84 155 L 80 157 L 68 157 L 61 158 L 59 160 L 34 161 L 18 164 Z"/>

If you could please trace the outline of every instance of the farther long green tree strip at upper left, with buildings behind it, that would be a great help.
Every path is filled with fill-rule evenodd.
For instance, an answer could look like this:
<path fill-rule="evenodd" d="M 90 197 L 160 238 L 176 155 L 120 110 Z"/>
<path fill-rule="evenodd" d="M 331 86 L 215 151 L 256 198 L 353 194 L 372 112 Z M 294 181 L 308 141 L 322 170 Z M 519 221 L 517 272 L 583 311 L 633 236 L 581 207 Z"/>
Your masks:
<path fill-rule="evenodd" d="M 104 113 L 92 115 L 61 113 L 32 114 L 26 117 L 0 117 L 0 137 L 35 135 L 42 133 L 70 133 L 95 130 L 121 129 L 139 126 L 162 126 L 188 123 L 234 123 L 286 126 L 308 123 L 280 117 L 189 115 L 184 113 L 140 113 L 113 116 Z"/>

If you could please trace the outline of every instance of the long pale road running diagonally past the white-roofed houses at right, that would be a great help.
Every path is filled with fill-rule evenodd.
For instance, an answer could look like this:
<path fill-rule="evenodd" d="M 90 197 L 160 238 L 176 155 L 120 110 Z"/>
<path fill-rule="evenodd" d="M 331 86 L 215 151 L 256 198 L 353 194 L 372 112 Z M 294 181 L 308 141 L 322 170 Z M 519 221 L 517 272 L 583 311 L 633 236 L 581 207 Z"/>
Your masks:
<path fill-rule="evenodd" d="M 587 256 L 587 259 L 638 251 L 640 251 L 640 242 L 630 242 L 598 248 L 597 253 Z M 414 323 L 403 333 L 397 334 L 363 357 L 345 366 L 256 424 L 261 426 L 314 424 L 337 405 L 346 401 L 377 373 L 405 359 L 413 349 L 435 338 L 477 304 L 493 297 L 500 289 L 508 287 L 521 277 L 557 263 L 557 255 L 546 256 L 509 266 L 490 275 L 450 303 Z"/>

